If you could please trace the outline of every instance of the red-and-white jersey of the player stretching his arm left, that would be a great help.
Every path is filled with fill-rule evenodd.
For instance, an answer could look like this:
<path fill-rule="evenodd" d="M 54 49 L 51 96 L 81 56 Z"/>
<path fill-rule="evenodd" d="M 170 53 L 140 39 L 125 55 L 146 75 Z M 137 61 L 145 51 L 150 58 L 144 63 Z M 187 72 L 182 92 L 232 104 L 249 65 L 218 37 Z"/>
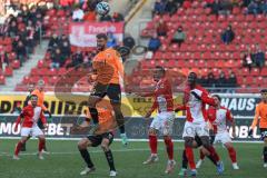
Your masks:
<path fill-rule="evenodd" d="M 174 111 L 172 89 L 167 78 L 161 78 L 156 85 L 156 90 L 146 93 L 145 97 L 155 98 L 151 110 L 158 109 L 158 112 Z"/>

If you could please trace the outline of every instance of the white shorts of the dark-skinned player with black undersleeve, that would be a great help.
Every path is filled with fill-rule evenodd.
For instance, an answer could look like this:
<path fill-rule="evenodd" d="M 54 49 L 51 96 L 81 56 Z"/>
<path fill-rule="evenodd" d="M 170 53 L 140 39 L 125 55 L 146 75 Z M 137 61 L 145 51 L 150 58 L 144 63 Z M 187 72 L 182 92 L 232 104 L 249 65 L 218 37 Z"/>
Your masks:
<path fill-rule="evenodd" d="M 209 127 L 206 121 L 202 122 L 189 122 L 186 121 L 182 132 L 184 137 L 191 137 L 195 138 L 195 136 L 209 136 Z"/>

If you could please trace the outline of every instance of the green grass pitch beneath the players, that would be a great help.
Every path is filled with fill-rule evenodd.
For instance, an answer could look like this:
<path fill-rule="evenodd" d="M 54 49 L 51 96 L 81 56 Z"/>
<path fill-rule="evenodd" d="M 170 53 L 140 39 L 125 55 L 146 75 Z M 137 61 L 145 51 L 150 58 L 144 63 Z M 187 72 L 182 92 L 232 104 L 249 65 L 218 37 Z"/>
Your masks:
<path fill-rule="evenodd" d="M 12 160 L 17 140 L 1 140 L 0 142 L 0 178 L 105 178 L 109 177 L 109 169 L 106 158 L 100 148 L 90 148 L 91 158 L 97 171 L 80 176 L 79 172 L 85 165 L 77 150 L 77 141 L 48 140 L 47 146 L 50 155 L 44 155 L 44 160 L 36 156 L 37 140 L 30 140 L 27 145 L 27 152 L 22 152 L 20 160 Z M 240 170 L 233 170 L 227 150 L 217 146 L 217 150 L 224 160 L 226 171 L 218 176 L 216 168 L 208 159 L 198 170 L 198 178 L 266 178 L 267 168 L 263 167 L 261 149 L 263 144 L 235 144 Z M 165 175 L 167 156 L 165 146 L 159 142 L 160 161 L 155 165 L 144 166 L 142 161 L 149 156 L 147 142 L 130 142 L 125 148 L 120 142 L 111 146 L 115 156 L 118 178 L 179 178 L 178 170 L 181 166 L 182 144 L 175 144 L 175 159 L 177 166 L 175 172 Z M 195 152 L 195 159 L 198 152 Z"/>

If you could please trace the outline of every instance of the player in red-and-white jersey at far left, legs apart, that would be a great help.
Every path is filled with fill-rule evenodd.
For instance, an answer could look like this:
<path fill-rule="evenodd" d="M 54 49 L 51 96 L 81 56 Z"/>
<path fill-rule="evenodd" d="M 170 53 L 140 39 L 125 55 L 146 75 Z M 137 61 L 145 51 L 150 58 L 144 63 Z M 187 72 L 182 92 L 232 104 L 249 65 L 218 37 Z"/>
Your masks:
<path fill-rule="evenodd" d="M 39 138 L 39 159 L 43 159 L 42 157 L 42 149 L 46 144 L 44 134 L 42 130 L 37 126 L 39 118 L 43 122 L 44 127 L 47 127 L 47 119 L 42 113 L 41 107 L 37 106 L 38 97 L 36 95 L 31 96 L 30 99 L 31 103 L 23 108 L 22 112 L 18 117 L 16 121 L 14 130 L 18 130 L 18 126 L 22 119 L 22 128 L 21 128 L 21 140 L 17 144 L 13 159 L 18 160 L 19 152 L 22 145 L 28 140 L 29 136 L 38 137 Z"/>

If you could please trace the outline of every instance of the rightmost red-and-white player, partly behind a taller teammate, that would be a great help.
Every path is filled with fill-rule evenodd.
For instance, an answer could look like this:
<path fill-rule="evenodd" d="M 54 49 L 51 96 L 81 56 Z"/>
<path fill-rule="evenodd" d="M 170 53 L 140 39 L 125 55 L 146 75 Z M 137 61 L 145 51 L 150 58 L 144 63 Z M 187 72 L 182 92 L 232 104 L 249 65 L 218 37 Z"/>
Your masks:
<path fill-rule="evenodd" d="M 233 137 L 236 136 L 236 125 L 234 117 L 229 109 L 220 106 L 221 98 L 218 95 L 214 95 L 217 107 L 209 107 L 208 109 L 208 119 L 212 125 L 212 131 L 215 134 L 214 144 L 221 142 L 224 147 L 228 150 L 229 157 L 231 159 L 233 168 L 239 169 L 237 165 L 236 150 L 231 144 L 230 135 L 227 130 L 227 121 L 231 122 Z M 197 162 L 197 168 L 200 167 L 205 155 L 200 152 L 200 160 Z"/>

